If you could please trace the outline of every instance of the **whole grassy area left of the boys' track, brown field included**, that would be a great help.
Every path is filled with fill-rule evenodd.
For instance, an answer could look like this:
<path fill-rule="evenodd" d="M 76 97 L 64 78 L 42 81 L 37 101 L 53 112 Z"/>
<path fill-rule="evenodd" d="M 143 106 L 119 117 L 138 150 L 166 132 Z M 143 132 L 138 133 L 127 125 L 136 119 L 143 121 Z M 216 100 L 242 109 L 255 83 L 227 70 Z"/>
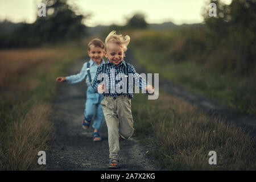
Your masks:
<path fill-rule="evenodd" d="M 51 101 L 57 76 L 74 60 L 85 56 L 84 47 L 44 47 L 2 50 L 0 110 L 0 169 L 35 170 L 38 152 L 46 151 L 54 137 Z M 16 56 L 14 56 L 16 55 Z M 3 68 L 3 67 L 2 67 Z M 9 77 L 6 77 L 9 74 Z"/>

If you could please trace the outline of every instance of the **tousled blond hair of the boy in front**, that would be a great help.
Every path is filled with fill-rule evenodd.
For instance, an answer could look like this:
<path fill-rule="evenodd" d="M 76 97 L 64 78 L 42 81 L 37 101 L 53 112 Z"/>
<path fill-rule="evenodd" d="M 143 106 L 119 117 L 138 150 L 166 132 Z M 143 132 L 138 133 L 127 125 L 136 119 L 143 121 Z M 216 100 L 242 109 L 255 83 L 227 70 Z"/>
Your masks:
<path fill-rule="evenodd" d="M 106 37 L 105 45 L 107 47 L 108 43 L 117 43 L 119 46 L 123 46 L 123 52 L 127 51 L 127 46 L 130 42 L 130 36 L 122 36 L 122 34 L 117 34 L 115 30 L 109 33 L 109 35 Z M 105 49 L 106 49 L 105 47 Z"/>

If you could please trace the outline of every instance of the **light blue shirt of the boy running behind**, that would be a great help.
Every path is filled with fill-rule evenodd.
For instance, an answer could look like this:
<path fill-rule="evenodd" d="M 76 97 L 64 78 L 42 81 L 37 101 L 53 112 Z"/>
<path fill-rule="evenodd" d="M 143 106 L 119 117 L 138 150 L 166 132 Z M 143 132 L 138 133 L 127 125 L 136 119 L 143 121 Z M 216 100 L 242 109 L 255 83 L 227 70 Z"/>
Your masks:
<path fill-rule="evenodd" d="M 68 84 L 75 84 L 77 82 L 84 80 L 84 78 L 87 75 L 87 64 L 90 64 L 90 77 L 92 78 L 92 82 L 93 82 L 94 77 L 96 76 L 96 73 L 97 73 L 98 66 L 101 64 L 105 64 L 105 61 L 104 61 L 104 59 L 101 59 L 101 64 L 97 65 L 97 63 L 95 63 L 92 59 L 90 59 L 88 62 L 86 62 L 86 63 L 84 63 L 84 65 L 82 65 L 82 69 L 81 69 L 80 73 L 66 77 L 66 81 L 68 82 Z M 88 76 L 86 77 L 85 82 L 88 86 L 91 85 L 91 83 L 89 82 Z"/>

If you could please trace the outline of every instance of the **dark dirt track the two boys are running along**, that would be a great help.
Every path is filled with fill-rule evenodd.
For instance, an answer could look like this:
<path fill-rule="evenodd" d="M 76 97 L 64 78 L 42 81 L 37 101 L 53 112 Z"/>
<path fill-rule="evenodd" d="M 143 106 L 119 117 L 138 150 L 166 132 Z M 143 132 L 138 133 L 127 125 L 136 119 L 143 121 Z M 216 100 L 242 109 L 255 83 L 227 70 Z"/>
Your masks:
<path fill-rule="evenodd" d="M 79 73 L 83 63 L 84 60 L 76 61 L 67 75 Z M 109 146 L 106 123 L 104 122 L 100 131 L 102 137 L 100 142 L 93 142 L 92 127 L 84 130 L 81 126 L 86 100 L 85 82 L 58 85 L 50 118 L 55 123 L 56 138 L 46 154 L 47 170 L 160 170 L 155 160 L 148 155 L 148 149 L 140 146 L 133 138 L 120 143 L 119 169 L 108 169 Z"/>

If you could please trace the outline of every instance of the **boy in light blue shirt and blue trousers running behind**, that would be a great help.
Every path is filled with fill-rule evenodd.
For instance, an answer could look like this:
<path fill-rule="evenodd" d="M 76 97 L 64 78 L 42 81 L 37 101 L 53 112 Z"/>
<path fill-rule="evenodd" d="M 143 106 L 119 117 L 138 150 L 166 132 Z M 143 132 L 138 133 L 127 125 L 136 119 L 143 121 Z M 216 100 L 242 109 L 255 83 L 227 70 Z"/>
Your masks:
<path fill-rule="evenodd" d="M 84 120 L 82 121 L 82 127 L 88 129 L 92 118 L 93 122 L 93 141 L 100 141 L 101 137 L 99 134 L 100 127 L 104 121 L 104 114 L 101 107 L 101 101 L 104 98 L 102 94 L 94 93 L 92 87 L 92 81 L 96 75 L 96 71 L 99 65 L 105 64 L 102 59 L 104 56 L 105 45 L 100 39 L 93 39 L 88 44 L 88 55 L 90 60 L 82 66 L 80 73 L 77 75 L 71 75 L 68 77 L 57 77 L 56 81 L 63 82 L 67 81 L 68 84 L 75 84 L 84 80 L 86 77 L 86 84 L 88 86 L 86 91 L 86 102 L 84 111 Z"/>

